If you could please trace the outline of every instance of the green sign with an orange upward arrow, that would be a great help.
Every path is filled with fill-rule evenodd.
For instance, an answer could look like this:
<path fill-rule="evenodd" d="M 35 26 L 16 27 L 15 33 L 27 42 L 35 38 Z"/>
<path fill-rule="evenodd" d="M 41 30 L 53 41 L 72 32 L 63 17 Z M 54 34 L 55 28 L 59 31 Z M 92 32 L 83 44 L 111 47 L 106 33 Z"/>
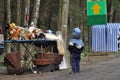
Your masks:
<path fill-rule="evenodd" d="M 106 24 L 106 0 L 87 0 L 87 24 Z"/>

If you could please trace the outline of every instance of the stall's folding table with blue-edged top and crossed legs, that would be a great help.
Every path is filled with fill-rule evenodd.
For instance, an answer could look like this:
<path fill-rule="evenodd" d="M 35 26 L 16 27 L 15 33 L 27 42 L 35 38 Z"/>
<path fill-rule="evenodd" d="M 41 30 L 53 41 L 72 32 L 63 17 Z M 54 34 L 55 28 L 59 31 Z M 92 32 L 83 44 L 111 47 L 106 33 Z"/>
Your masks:
<path fill-rule="evenodd" d="M 13 51 L 18 51 L 17 47 L 14 46 L 14 44 L 22 44 L 24 49 L 25 49 L 25 55 L 29 55 L 29 59 L 25 60 L 25 63 L 23 64 L 22 67 L 28 67 L 30 66 L 32 60 L 35 58 L 33 55 L 33 51 L 36 48 L 39 48 L 43 46 L 44 48 L 52 46 L 53 47 L 53 53 L 58 53 L 57 50 L 57 42 L 56 40 L 46 40 L 46 39 L 39 39 L 39 40 L 5 40 L 4 43 L 10 43 L 11 48 Z M 33 48 L 33 49 L 32 49 Z M 40 51 L 38 51 L 39 53 Z"/>

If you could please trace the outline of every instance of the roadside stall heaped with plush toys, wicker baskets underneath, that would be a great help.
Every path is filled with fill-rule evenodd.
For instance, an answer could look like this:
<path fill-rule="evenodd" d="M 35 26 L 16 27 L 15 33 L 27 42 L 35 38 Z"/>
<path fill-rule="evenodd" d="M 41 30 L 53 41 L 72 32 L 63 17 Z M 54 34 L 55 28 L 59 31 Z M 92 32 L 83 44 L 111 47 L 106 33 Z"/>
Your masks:
<path fill-rule="evenodd" d="M 9 74 L 21 74 L 28 69 L 33 73 L 59 70 L 64 55 L 60 32 L 53 34 L 51 30 L 44 32 L 33 24 L 23 28 L 14 23 L 9 24 L 6 31 L 4 43 L 10 45 L 11 52 L 6 54 L 4 62 Z"/>

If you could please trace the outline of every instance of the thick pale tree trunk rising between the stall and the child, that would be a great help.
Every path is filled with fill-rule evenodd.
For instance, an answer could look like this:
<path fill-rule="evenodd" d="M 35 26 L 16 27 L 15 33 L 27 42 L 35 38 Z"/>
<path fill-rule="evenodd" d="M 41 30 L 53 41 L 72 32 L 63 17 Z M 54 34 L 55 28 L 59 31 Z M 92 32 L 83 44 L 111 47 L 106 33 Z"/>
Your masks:
<path fill-rule="evenodd" d="M 66 50 L 66 44 L 67 44 L 67 26 L 68 26 L 68 9 L 69 9 L 69 0 L 60 0 L 60 7 L 59 7 L 59 24 L 58 24 L 58 30 L 61 30 L 62 37 L 64 40 L 64 49 L 65 49 L 65 56 L 64 60 L 66 63 L 66 68 L 69 66 L 67 63 L 67 50 Z"/>

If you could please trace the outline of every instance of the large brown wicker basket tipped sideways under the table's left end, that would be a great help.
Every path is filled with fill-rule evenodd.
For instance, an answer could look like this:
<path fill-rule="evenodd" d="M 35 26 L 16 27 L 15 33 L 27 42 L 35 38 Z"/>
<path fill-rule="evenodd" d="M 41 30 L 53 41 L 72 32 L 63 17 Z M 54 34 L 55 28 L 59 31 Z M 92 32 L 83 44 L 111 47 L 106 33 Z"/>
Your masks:
<path fill-rule="evenodd" d="M 22 74 L 25 71 L 24 67 L 21 67 L 20 53 L 13 51 L 6 54 L 4 62 L 7 66 L 8 74 Z"/>

